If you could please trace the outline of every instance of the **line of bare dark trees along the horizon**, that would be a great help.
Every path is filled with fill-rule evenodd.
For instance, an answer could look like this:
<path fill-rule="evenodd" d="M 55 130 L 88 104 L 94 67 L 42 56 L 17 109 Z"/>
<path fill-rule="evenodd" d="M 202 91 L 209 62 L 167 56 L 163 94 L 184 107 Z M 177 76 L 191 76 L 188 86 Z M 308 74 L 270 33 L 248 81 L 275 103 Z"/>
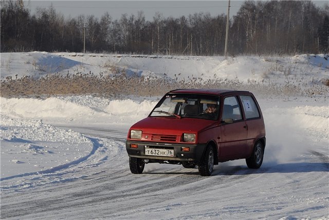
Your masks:
<path fill-rule="evenodd" d="M 191 56 L 223 55 L 226 14 L 163 17 L 145 21 L 122 14 L 113 20 L 104 13 L 64 18 L 52 6 L 34 14 L 22 0 L 1 0 L 1 52 L 67 51 Z M 329 4 L 311 1 L 245 1 L 230 19 L 228 53 L 327 53 Z"/>

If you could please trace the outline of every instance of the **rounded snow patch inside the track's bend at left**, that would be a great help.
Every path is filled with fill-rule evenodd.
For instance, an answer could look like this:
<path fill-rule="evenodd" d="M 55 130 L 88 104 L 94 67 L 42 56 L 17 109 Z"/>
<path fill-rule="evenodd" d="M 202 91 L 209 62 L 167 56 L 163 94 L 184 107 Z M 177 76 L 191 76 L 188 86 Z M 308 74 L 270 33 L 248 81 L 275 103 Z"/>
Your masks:
<path fill-rule="evenodd" d="M 56 172 L 86 157 L 92 141 L 42 120 L 1 115 L 1 179 Z"/>

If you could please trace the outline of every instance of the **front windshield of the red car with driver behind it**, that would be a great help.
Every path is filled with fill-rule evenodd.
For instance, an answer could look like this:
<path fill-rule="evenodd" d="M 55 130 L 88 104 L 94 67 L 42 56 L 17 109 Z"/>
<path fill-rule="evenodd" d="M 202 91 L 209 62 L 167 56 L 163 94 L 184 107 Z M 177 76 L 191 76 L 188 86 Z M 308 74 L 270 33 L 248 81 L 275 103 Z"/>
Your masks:
<path fill-rule="evenodd" d="M 220 99 L 200 94 L 168 94 L 155 106 L 149 116 L 218 119 Z"/>

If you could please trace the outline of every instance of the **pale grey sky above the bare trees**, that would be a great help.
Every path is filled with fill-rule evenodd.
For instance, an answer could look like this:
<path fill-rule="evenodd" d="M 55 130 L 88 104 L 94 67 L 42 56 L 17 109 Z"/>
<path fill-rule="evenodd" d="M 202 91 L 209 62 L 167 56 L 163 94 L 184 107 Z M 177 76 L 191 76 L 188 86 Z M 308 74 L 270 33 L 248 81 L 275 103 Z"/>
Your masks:
<path fill-rule="evenodd" d="M 61 12 L 65 17 L 77 17 L 78 15 L 95 15 L 100 18 L 108 12 L 114 20 L 119 20 L 121 15 L 137 15 L 138 11 L 143 11 L 145 20 L 153 21 L 156 12 L 160 12 L 163 17 L 180 17 L 182 15 L 204 12 L 211 16 L 227 14 L 228 1 L 24 1 L 32 13 L 38 7 L 48 8 L 51 4 L 57 12 Z M 244 1 L 230 2 L 230 17 L 236 15 Z M 327 1 L 313 1 L 316 6 L 323 7 Z"/>

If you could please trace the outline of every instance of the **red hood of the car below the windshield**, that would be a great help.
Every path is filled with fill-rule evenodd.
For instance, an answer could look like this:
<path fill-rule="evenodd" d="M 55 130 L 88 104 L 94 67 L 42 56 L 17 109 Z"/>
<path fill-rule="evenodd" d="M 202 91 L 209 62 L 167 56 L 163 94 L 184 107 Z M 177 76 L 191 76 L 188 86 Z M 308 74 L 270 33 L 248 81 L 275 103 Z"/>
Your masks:
<path fill-rule="evenodd" d="M 198 133 L 215 124 L 216 121 L 195 118 L 147 117 L 135 123 L 131 129 L 149 134 L 181 135 L 186 132 Z"/>

